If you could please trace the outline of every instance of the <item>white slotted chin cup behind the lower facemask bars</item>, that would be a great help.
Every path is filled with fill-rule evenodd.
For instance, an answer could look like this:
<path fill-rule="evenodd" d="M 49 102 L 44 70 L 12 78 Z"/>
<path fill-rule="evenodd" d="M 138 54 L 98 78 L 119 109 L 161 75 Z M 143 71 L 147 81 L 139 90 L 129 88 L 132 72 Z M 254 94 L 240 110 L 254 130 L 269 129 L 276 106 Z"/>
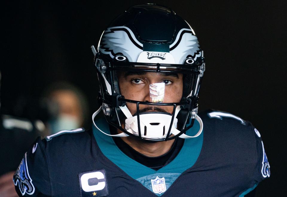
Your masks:
<path fill-rule="evenodd" d="M 162 113 L 146 113 L 140 116 L 141 137 L 149 139 L 164 139 L 170 127 L 171 115 Z M 138 116 L 126 119 L 125 129 L 138 136 Z M 170 135 L 177 127 L 177 118 L 173 119 Z"/>

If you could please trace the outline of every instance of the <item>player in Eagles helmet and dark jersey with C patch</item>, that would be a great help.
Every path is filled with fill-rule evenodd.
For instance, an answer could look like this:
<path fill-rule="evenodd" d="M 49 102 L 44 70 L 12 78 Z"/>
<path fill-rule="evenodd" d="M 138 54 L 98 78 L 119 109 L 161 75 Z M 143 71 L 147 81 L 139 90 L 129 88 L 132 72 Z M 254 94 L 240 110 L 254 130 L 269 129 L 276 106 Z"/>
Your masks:
<path fill-rule="evenodd" d="M 20 196 L 244 196 L 270 176 L 251 123 L 197 113 L 203 51 L 172 10 L 133 6 L 91 48 L 93 128 L 38 139 L 13 178 Z"/>

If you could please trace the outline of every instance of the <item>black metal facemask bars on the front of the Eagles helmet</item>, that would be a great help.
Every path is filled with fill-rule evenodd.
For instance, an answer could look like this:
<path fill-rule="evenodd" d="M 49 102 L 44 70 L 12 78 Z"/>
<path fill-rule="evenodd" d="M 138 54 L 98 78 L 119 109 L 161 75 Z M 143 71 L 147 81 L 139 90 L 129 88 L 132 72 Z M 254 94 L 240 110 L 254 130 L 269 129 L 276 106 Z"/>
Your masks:
<path fill-rule="evenodd" d="M 107 122 L 117 129 L 121 130 L 122 132 L 128 134 L 129 136 L 138 138 L 140 140 L 144 141 L 167 141 L 174 139 L 181 134 L 185 133 L 187 130 L 189 130 L 193 124 L 195 119 L 192 118 L 192 121 L 189 126 L 186 126 L 189 123 L 189 119 L 193 113 L 193 110 L 197 108 L 198 104 L 198 91 L 201 84 L 202 77 L 199 78 L 198 87 L 196 89 L 196 83 L 198 76 L 203 74 L 202 71 L 202 65 L 204 64 L 204 58 L 198 58 L 197 61 L 195 61 L 193 64 L 154 64 L 154 63 L 138 63 L 138 62 L 123 62 L 123 61 L 113 61 L 109 62 L 106 61 L 103 56 L 100 53 L 97 53 L 95 55 L 94 64 L 97 67 L 97 74 L 98 79 L 100 81 L 100 102 L 105 103 L 109 106 L 111 113 L 106 115 L 105 118 Z M 181 102 L 179 103 L 153 103 L 153 102 L 147 102 L 147 101 L 134 101 L 124 98 L 124 96 L 120 95 L 119 93 L 115 93 L 115 71 L 141 71 L 141 72 L 157 72 L 157 73 L 183 73 L 183 74 L 193 74 L 193 86 L 192 86 L 192 96 L 189 96 L 187 98 L 183 97 L 181 99 Z M 107 86 L 105 80 L 103 79 L 103 75 L 109 79 L 109 84 L 111 85 L 111 91 L 112 95 L 108 93 Z M 196 94 L 194 95 L 194 93 Z M 137 119 L 138 119 L 138 136 L 126 131 L 123 129 L 120 123 L 120 108 L 119 106 L 125 106 L 126 103 L 133 103 L 137 106 Z M 101 104 L 101 103 L 99 103 Z M 141 136 L 141 128 L 140 128 L 140 113 L 139 113 L 139 105 L 155 105 L 155 106 L 173 106 L 173 112 L 172 112 L 172 119 L 170 123 L 170 127 L 168 129 L 168 133 L 166 138 L 163 139 L 150 139 L 150 138 L 143 138 Z M 178 133 L 175 136 L 170 137 L 170 132 L 173 124 L 173 120 L 175 118 L 175 110 L 176 107 L 180 106 L 181 110 L 178 113 L 178 116 L 181 118 L 178 119 L 178 130 L 180 133 Z M 112 113 L 113 112 L 113 113 Z M 116 122 L 116 123 L 115 123 Z"/>

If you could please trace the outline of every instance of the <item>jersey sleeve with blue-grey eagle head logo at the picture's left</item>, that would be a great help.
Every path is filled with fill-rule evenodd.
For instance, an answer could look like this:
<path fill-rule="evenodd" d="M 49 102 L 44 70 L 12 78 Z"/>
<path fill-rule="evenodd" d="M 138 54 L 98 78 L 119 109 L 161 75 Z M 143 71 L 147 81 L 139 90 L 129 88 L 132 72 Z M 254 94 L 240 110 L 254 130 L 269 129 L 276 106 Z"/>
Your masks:
<path fill-rule="evenodd" d="M 51 196 L 45 143 L 38 137 L 16 169 L 13 182 L 19 196 Z"/>

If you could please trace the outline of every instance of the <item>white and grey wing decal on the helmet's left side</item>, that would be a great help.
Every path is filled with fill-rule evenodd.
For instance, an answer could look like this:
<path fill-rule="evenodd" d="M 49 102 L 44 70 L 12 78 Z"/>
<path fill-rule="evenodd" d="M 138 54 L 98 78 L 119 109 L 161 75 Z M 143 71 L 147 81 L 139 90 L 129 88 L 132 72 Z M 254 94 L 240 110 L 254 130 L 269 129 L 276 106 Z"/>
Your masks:
<path fill-rule="evenodd" d="M 109 27 L 101 38 L 99 51 L 114 58 L 117 53 L 123 54 L 130 62 L 136 62 L 143 51 L 140 43 L 128 27 Z"/>

